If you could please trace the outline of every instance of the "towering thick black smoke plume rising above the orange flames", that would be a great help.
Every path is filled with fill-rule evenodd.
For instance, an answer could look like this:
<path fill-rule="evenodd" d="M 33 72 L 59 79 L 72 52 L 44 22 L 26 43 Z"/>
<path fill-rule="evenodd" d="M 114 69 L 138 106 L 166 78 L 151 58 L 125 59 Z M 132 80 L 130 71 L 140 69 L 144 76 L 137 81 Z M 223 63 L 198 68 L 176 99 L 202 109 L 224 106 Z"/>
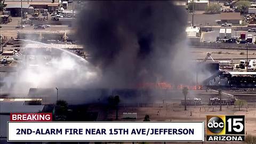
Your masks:
<path fill-rule="evenodd" d="M 183 49 L 186 21 L 186 12 L 170 1 L 89 1 L 77 36 L 102 71 L 101 86 L 183 83 L 186 75 L 173 60 Z"/>

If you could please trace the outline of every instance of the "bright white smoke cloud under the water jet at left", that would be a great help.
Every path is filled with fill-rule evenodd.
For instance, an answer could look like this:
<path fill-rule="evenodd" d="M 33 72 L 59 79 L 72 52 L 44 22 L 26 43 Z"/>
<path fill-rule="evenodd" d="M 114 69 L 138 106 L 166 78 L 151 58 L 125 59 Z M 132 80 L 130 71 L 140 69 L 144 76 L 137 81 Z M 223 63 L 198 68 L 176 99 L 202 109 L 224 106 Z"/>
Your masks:
<path fill-rule="evenodd" d="M 45 44 L 45 47 L 50 46 Z M 44 55 L 36 49 L 27 49 L 33 55 L 22 55 L 16 73 L 2 77 L 2 93 L 27 95 L 30 88 L 82 88 L 100 77 L 97 68 L 68 51 L 52 47 L 52 51 L 61 53 L 57 56 Z"/>

